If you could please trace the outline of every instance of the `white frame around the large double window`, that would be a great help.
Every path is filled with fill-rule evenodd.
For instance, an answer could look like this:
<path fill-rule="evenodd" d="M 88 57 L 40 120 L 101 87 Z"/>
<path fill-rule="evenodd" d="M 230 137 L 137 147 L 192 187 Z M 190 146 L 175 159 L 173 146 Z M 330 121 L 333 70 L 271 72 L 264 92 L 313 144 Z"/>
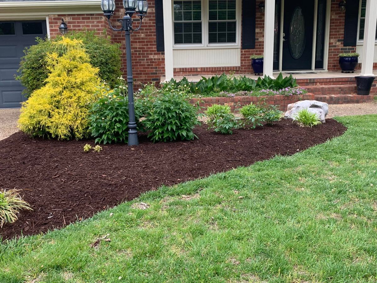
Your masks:
<path fill-rule="evenodd" d="M 185 0 L 182 0 L 185 1 Z M 172 37 L 173 49 L 204 49 L 204 48 L 241 48 L 241 0 L 236 0 L 236 42 L 235 43 L 208 43 L 208 1 L 201 0 L 202 4 L 202 44 L 174 44 L 174 0 L 172 0 Z"/>

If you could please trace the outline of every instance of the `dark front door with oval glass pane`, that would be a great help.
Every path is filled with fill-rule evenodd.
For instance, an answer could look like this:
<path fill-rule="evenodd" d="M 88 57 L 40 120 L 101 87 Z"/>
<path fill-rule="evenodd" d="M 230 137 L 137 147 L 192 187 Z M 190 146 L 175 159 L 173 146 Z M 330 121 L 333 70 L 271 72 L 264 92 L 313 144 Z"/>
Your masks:
<path fill-rule="evenodd" d="M 314 0 L 285 0 L 283 70 L 311 70 Z"/>

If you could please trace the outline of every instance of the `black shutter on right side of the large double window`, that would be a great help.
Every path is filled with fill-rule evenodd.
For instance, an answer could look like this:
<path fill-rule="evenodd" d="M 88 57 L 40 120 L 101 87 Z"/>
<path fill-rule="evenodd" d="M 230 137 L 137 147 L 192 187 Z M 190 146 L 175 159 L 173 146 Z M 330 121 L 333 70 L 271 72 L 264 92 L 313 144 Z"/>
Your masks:
<path fill-rule="evenodd" d="M 255 48 L 255 0 L 242 0 L 242 49 Z"/>

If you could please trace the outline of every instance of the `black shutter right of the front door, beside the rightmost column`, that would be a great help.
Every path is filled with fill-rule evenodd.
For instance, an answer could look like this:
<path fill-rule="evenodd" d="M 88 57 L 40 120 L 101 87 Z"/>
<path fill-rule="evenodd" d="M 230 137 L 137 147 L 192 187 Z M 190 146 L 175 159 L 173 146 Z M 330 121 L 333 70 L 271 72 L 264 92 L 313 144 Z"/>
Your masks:
<path fill-rule="evenodd" d="M 343 46 L 356 46 L 360 0 L 347 0 Z"/>

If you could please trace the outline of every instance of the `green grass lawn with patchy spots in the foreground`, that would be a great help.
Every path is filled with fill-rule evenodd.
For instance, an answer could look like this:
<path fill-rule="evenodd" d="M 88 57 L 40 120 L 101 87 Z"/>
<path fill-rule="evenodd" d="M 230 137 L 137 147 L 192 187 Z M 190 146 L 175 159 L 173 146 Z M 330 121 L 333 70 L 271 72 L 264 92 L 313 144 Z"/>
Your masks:
<path fill-rule="evenodd" d="M 6 241 L 0 282 L 376 282 L 377 115 L 339 121 L 307 151 Z"/>

